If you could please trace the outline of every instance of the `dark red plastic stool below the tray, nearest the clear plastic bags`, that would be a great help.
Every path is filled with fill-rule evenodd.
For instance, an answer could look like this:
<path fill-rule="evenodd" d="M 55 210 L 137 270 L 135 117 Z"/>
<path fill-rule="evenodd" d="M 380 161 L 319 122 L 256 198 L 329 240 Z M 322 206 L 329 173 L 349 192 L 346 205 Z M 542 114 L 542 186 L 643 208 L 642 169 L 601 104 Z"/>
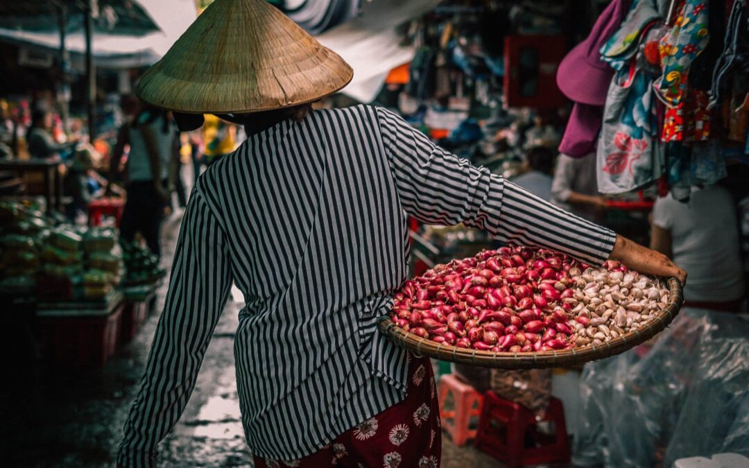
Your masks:
<path fill-rule="evenodd" d="M 540 434 L 536 415 L 526 407 L 486 392 L 476 447 L 508 467 L 568 462 L 564 407 L 551 398 L 542 421 L 554 422 L 554 435 Z"/>

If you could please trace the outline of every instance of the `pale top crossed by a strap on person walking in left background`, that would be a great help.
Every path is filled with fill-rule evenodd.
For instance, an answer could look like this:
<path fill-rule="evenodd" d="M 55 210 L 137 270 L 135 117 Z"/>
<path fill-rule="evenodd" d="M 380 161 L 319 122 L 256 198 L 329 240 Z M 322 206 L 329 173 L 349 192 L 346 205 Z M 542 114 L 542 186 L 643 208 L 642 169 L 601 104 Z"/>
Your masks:
<path fill-rule="evenodd" d="M 148 125 L 154 133 L 156 148 L 159 151 L 160 180 L 169 177 L 169 159 L 172 156 L 172 145 L 175 138 L 175 128 L 169 125 L 166 133 L 163 131 L 163 121 L 157 118 Z M 127 156 L 127 174 L 131 182 L 153 180 L 151 176 L 151 162 L 148 159 L 148 147 L 145 145 L 143 133 L 138 127 L 130 128 L 130 154 Z"/>

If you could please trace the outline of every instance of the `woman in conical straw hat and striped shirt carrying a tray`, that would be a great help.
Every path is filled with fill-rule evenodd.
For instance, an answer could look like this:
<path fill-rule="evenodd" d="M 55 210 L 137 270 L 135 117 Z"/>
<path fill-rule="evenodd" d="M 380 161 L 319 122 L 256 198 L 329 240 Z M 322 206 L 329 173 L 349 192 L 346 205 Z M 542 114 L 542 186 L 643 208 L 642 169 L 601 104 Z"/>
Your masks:
<path fill-rule="evenodd" d="M 140 82 L 182 130 L 211 113 L 249 138 L 192 191 L 119 464 L 154 464 L 234 282 L 246 298 L 234 349 L 256 467 L 437 467 L 431 365 L 377 332 L 407 275 L 406 215 L 685 279 L 664 255 L 471 166 L 392 112 L 310 109 L 351 76 L 265 1 L 216 0 Z"/>

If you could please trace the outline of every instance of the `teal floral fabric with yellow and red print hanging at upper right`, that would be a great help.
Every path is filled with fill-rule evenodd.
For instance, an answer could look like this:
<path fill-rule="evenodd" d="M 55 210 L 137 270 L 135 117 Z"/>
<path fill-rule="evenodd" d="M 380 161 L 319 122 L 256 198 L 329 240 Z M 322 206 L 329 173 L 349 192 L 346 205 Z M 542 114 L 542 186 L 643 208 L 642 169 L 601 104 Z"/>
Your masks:
<path fill-rule="evenodd" d="M 673 28 L 659 44 L 662 73 L 655 80 L 658 97 L 667 106 L 685 99 L 689 67 L 709 40 L 706 0 L 685 0 Z"/>

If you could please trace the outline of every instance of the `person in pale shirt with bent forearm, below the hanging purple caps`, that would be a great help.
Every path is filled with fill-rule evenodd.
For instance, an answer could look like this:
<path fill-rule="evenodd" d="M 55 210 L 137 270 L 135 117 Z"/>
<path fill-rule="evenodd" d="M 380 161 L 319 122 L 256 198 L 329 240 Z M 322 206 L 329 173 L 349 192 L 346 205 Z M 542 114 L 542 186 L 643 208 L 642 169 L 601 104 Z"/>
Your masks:
<path fill-rule="evenodd" d="M 560 154 L 551 195 L 551 201 L 557 206 L 589 221 L 601 222 L 601 213 L 607 204 L 606 198 L 598 193 L 595 157 L 589 154 L 573 158 Z"/>

